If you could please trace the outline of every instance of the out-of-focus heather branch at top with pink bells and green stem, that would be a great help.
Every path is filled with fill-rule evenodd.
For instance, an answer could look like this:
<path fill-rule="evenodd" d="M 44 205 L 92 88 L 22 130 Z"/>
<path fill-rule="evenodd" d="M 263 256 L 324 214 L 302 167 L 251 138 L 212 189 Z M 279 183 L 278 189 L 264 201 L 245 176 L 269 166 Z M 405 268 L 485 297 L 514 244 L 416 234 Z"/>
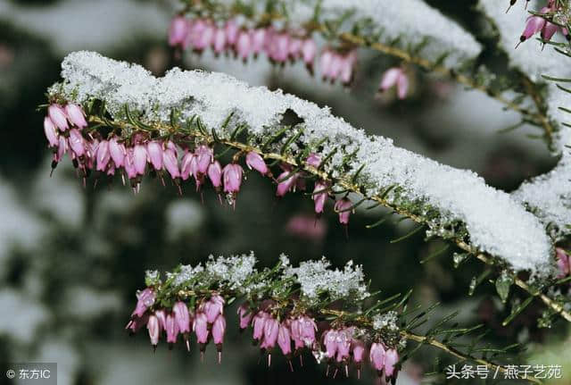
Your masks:
<path fill-rule="evenodd" d="M 190 14 L 194 19 L 186 20 L 182 16 L 177 16 L 172 21 L 170 28 L 171 46 L 182 49 L 193 48 L 197 52 L 202 52 L 204 49 L 212 47 L 216 54 L 220 54 L 224 50 L 234 50 L 244 61 L 250 54 L 257 55 L 261 49 L 265 49 L 272 62 L 284 63 L 288 59 L 291 61 L 300 59 L 312 70 L 314 67 L 313 57 L 317 48 L 311 38 L 311 34 L 314 31 L 319 32 L 328 41 L 328 46 L 335 46 L 336 42 L 337 46 L 339 46 L 337 51 L 340 54 L 338 56 L 339 63 L 335 64 L 335 59 L 337 58 L 335 49 L 327 47 L 327 49 L 322 51 L 319 66 L 321 67 L 320 71 L 324 80 L 335 81 L 338 77 L 344 84 L 350 83 L 353 78 L 353 67 L 357 62 L 355 48 L 368 47 L 374 51 L 401 59 L 404 63 L 415 64 L 423 70 L 439 73 L 451 80 L 456 80 L 468 88 L 484 92 L 505 105 L 507 109 L 521 113 L 524 121 L 542 127 L 545 131 L 546 140 L 550 145 L 552 144 L 555 128 L 545 114 L 546 105 L 534 83 L 524 73 L 520 73 L 519 77 L 524 86 L 525 95 L 531 96 L 534 102 L 535 111 L 522 107 L 522 100 L 512 101 L 508 97 L 503 96 L 502 91 L 497 89 L 498 87 L 486 85 L 482 77 L 476 79 L 473 76 L 463 74 L 461 69 L 464 68 L 464 72 L 468 72 L 466 70 L 472 67 L 471 64 L 452 61 L 453 67 L 443 65 L 447 55 L 450 54 L 450 52 L 446 52 L 444 49 L 441 49 L 443 53 L 437 56 L 435 60 L 429 60 L 420 56 L 419 54 L 425 49 L 425 46 L 431 44 L 426 40 L 422 40 L 418 44 L 410 44 L 407 48 L 398 46 L 402 37 L 410 40 L 411 31 L 404 26 L 397 29 L 398 24 L 395 26 L 375 25 L 378 22 L 375 19 L 375 15 L 367 15 L 365 17 L 360 13 L 360 6 L 366 5 L 354 5 L 353 7 L 347 5 L 346 9 L 343 8 L 342 10 L 346 13 L 342 11 L 333 13 L 328 8 L 327 2 L 323 2 L 323 4 L 315 5 L 315 12 L 304 13 L 307 20 L 299 20 L 299 17 L 288 14 L 287 6 L 273 6 L 271 7 L 271 13 L 268 13 L 265 7 L 260 7 L 260 10 L 258 10 L 255 6 L 246 6 L 244 4 L 218 4 L 216 2 L 204 3 L 202 1 L 184 3 L 186 7 L 180 14 Z M 263 3 L 263 1 L 260 2 L 260 4 Z M 335 9 L 337 5 L 334 4 L 331 8 Z M 421 4 L 409 5 L 421 8 L 426 6 Z M 299 7 L 296 4 L 289 4 L 289 7 L 294 9 L 294 11 L 289 10 L 289 13 L 300 13 L 299 10 L 296 10 L 296 6 Z M 389 8 L 391 6 L 391 4 L 384 5 L 384 7 Z M 406 5 L 399 4 L 398 6 Z M 424 12 L 428 13 L 430 11 L 426 10 Z M 418 9 L 418 13 L 422 12 L 422 9 Z M 247 21 L 252 21 L 255 26 L 258 26 L 257 29 L 248 29 L 247 26 L 239 29 L 233 19 L 236 15 L 241 15 Z M 225 29 L 221 27 L 216 28 L 216 23 L 219 19 L 227 22 Z M 383 21 L 387 22 L 388 20 Z M 274 28 L 272 24 L 274 22 L 277 25 L 285 23 L 285 28 Z M 290 24 L 294 26 L 290 26 Z M 345 28 L 340 27 L 341 25 L 344 25 Z M 347 25 L 349 25 L 349 28 Z M 387 34 L 379 32 L 381 27 L 385 27 L 383 32 L 386 29 L 396 29 L 396 31 L 393 30 L 388 36 L 384 36 Z M 281 31 L 277 33 L 274 29 L 281 29 Z M 398 33 L 401 35 L 395 37 Z M 426 29 L 424 33 L 426 34 Z M 454 31 L 451 33 L 459 33 L 461 35 L 461 32 Z M 385 42 L 382 42 L 381 38 Z M 434 38 L 438 39 L 438 34 Z M 258 43 L 258 39 L 261 39 L 260 43 Z M 468 39 L 466 41 L 468 45 Z M 475 42 L 470 44 L 476 46 Z M 283 47 L 284 53 L 277 52 L 277 50 L 281 49 L 280 47 Z M 459 47 L 453 48 L 459 49 Z M 476 49 L 463 48 L 472 54 L 476 52 Z M 300 50 L 300 53 L 296 51 L 297 49 Z M 350 52 L 350 54 L 346 54 L 346 52 Z M 389 73 L 385 72 L 379 90 L 385 91 L 393 87 L 394 82 L 387 81 L 390 78 Z M 407 75 L 405 74 L 405 76 Z M 408 92 L 408 80 L 405 80 L 405 84 L 407 85 L 403 86 L 402 89 L 397 84 L 400 98 L 405 97 Z"/>

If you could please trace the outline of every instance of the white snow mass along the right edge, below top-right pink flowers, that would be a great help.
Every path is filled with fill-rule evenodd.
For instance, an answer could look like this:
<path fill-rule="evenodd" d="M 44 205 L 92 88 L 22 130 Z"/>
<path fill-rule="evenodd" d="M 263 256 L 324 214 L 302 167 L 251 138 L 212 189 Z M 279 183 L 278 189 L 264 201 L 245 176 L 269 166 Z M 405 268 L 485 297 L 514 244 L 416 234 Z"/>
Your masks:
<path fill-rule="evenodd" d="M 523 4 L 511 7 L 509 13 L 505 13 L 498 2 L 492 0 L 480 0 L 480 5 L 495 22 L 500 33 L 500 45 L 509 55 L 511 63 L 531 80 L 539 82 L 542 75 L 556 79 L 571 77 L 567 57 L 552 46 L 546 48 L 541 42 L 525 41 L 515 48 L 524 31 L 525 21 L 532 16 Z M 538 21 L 545 22 L 542 19 Z M 551 172 L 525 182 L 513 193 L 513 197 L 528 206 L 542 220 L 551 236 L 560 240 L 569 234 L 571 223 L 571 150 L 568 148 L 571 145 L 571 129 L 566 124 L 569 118 L 566 109 L 571 99 L 552 81 L 547 83 L 547 94 L 547 112 L 552 121 L 558 122 L 554 139 L 561 160 Z"/>

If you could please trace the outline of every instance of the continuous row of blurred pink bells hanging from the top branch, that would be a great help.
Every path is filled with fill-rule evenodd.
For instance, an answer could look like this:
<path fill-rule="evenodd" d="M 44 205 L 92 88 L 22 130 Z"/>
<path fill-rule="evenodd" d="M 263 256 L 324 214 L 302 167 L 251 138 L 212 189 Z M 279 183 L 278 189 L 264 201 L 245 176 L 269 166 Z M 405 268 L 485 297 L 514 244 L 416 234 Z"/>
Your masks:
<path fill-rule="evenodd" d="M 287 30 L 273 26 L 245 28 L 234 19 L 217 25 L 209 19 L 187 19 L 175 16 L 170 22 L 169 44 L 179 49 L 203 52 L 211 48 L 214 54 L 231 52 L 246 62 L 250 57 L 266 54 L 272 63 L 302 61 L 313 71 L 318 46 L 304 29 Z M 323 80 L 351 83 L 357 54 L 352 47 L 325 48 L 319 55 L 319 71 Z"/>

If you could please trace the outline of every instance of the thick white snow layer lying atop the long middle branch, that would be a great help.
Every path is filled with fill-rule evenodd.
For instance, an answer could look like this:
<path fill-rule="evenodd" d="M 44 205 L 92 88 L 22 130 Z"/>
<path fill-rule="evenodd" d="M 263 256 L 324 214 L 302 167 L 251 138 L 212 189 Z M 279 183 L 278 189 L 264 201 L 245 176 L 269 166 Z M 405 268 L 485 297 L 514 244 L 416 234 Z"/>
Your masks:
<path fill-rule="evenodd" d="M 326 168 L 334 176 L 342 176 L 339 166 L 343 155 L 357 150 L 347 174 L 366 164 L 360 182 L 367 186 L 368 195 L 396 184 L 402 188 L 401 197 L 438 209 L 440 221 L 429 223 L 436 233 L 442 233 L 449 222 L 461 221 L 466 224 L 472 245 L 480 250 L 501 256 L 517 270 L 547 269 L 551 246 L 542 223 L 509 194 L 487 186 L 474 172 L 395 147 L 390 139 L 367 136 L 333 116 L 327 107 L 320 108 L 281 91 L 249 88 L 220 73 L 174 69 L 156 79 L 140 66 L 90 52 L 70 54 L 62 68 L 64 81 L 54 85 L 51 93 L 62 93 L 80 103 L 90 98 L 103 99 L 118 119 L 125 104 L 142 113 L 141 119 L 146 122 L 168 122 L 171 108 L 176 107 L 183 119 L 198 114 L 208 130 L 218 130 L 220 137 L 228 138 L 236 124 L 246 123 L 249 133 L 262 140 L 277 130 L 281 115 L 291 109 L 304 120 L 300 138 L 304 144 L 327 138 L 321 155 L 338 149 Z M 227 130 L 222 131 L 220 126 L 229 113 L 235 115 Z"/>

